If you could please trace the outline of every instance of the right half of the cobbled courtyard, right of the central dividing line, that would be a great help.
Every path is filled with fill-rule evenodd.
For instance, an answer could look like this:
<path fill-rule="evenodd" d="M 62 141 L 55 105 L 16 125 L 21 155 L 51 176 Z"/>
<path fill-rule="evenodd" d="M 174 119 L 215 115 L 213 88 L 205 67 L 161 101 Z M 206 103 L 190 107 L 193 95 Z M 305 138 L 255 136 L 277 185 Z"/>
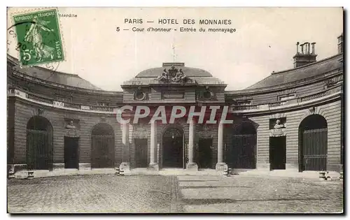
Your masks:
<path fill-rule="evenodd" d="M 343 183 L 288 177 L 179 177 L 183 212 L 342 212 Z"/>

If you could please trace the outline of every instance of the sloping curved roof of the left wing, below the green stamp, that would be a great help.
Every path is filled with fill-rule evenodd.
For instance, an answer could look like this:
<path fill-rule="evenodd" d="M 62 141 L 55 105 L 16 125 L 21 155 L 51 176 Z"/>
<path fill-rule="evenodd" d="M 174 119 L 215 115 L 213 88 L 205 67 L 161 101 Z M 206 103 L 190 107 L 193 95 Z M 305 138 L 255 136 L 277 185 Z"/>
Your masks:
<path fill-rule="evenodd" d="M 13 69 L 20 73 L 25 73 L 35 78 L 39 78 L 41 80 L 46 80 L 49 82 L 55 82 L 57 84 L 67 85 L 70 87 L 79 87 L 83 89 L 94 89 L 94 90 L 102 90 L 99 87 L 92 85 L 91 82 L 80 78 L 77 74 L 70 73 L 62 73 L 59 71 L 52 71 L 48 68 L 43 68 L 40 66 L 24 66 L 20 67 L 18 64 L 18 59 L 15 57 L 11 57 L 8 55 L 8 60 L 12 61 L 15 66 Z"/>

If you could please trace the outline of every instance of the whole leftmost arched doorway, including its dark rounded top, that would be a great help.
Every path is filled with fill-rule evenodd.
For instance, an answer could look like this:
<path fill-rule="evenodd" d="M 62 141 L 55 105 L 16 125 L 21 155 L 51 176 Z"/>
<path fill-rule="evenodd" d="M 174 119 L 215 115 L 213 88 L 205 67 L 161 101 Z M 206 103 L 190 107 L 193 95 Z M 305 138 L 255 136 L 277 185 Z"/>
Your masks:
<path fill-rule="evenodd" d="M 52 125 L 45 117 L 27 123 L 27 166 L 29 170 L 52 170 Z"/>

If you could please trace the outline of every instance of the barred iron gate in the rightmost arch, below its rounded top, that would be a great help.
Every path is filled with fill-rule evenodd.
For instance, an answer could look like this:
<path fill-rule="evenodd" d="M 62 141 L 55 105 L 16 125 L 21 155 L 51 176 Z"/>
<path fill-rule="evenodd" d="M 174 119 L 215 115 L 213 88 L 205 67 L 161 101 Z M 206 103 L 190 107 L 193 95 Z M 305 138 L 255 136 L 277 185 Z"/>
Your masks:
<path fill-rule="evenodd" d="M 302 170 L 327 170 L 327 128 L 302 132 Z"/>

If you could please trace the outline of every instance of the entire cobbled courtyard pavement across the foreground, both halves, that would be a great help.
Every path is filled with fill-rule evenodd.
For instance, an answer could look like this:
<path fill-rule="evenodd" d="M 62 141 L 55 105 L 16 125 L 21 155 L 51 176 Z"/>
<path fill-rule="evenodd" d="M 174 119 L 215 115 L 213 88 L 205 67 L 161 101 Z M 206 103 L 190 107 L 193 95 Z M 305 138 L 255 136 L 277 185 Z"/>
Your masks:
<path fill-rule="evenodd" d="M 8 180 L 10 213 L 318 213 L 342 207 L 342 181 L 106 174 Z"/>

